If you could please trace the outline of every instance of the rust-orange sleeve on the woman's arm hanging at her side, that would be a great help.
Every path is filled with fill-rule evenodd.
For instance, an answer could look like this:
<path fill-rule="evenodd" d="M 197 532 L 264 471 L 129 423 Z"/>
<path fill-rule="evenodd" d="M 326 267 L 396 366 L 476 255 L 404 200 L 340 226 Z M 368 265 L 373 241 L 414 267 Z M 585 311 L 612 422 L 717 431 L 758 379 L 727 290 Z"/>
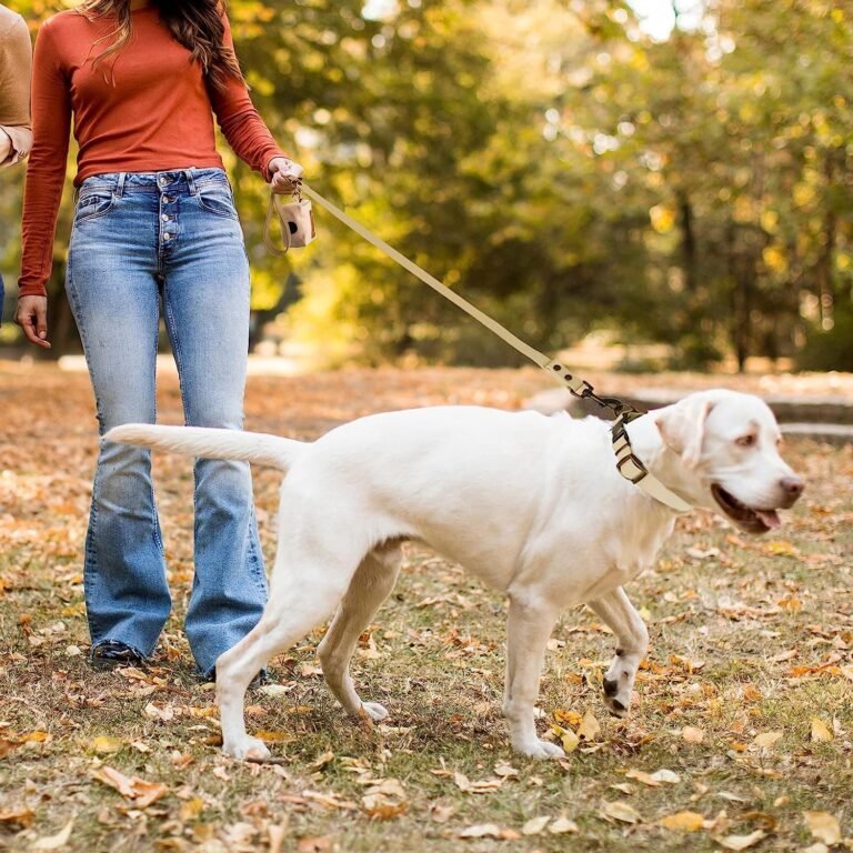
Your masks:
<path fill-rule="evenodd" d="M 23 192 L 19 295 L 43 297 L 53 267 L 53 235 L 71 132 L 69 84 L 50 21 L 39 30 L 32 68 L 33 142 Z"/>

